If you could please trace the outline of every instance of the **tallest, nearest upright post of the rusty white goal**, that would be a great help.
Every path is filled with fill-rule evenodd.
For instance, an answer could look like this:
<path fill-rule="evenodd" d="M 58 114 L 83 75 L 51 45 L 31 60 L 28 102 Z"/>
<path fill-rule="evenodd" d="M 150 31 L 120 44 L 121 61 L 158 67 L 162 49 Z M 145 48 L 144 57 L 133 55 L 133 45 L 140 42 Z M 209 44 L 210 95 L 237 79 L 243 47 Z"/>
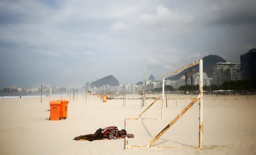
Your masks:
<path fill-rule="evenodd" d="M 203 149 L 203 60 L 199 62 L 199 148 Z"/>

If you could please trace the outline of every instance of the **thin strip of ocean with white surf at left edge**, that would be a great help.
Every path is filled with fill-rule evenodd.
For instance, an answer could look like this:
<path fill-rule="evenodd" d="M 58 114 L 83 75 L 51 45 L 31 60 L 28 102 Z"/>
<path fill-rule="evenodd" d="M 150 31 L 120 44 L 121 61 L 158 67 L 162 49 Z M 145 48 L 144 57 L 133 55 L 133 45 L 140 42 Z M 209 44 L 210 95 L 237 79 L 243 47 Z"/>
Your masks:
<path fill-rule="evenodd" d="M 77 95 L 80 95 L 80 94 L 81 93 L 77 93 Z M 42 97 L 46 97 L 46 95 L 50 95 L 50 93 L 42 93 Z M 66 96 L 66 95 L 67 93 L 62 93 L 62 96 Z M 71 92 L 71 95 L 73 95 L 72 92 Z M 9 93 L 9 92 L 0 93 L 0 99 L 15 99 L 15 98 L 20 98 L 20 96 L 21 98 L 41 97 L 41 93 Z M 51 96 L 61 96 L 61 93 L 52 93 Z"/>

